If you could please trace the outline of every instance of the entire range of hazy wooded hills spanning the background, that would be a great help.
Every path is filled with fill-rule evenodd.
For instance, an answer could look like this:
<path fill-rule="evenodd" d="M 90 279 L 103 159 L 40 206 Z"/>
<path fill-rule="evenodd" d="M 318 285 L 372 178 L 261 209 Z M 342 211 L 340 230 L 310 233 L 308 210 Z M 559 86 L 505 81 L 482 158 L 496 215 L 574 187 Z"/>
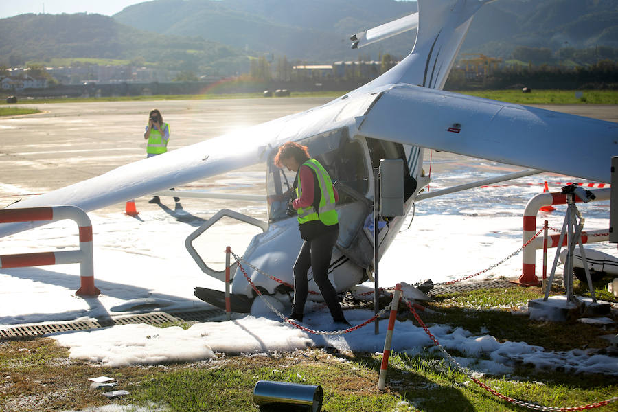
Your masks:
<path fill-rule="evenodd" d="M 263 54 L 312 63 L 403 57 L 415 31 L 361 50 L 349 36 L 416 9 L 395 0 L 155 0 L 113 18 L 23 14 L 0 20 L 0 65 L 107 58 L 229 76 Z M 497 0 L 474 17 L 461 53 L 510 58 L 521 46 L 618 47 L 618 1 Z"/>

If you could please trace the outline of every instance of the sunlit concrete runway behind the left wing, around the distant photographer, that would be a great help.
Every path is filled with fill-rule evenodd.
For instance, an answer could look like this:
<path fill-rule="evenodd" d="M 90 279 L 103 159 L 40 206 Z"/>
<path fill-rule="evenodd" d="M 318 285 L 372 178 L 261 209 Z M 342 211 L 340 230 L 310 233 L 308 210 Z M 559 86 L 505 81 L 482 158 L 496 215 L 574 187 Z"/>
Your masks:
<path fill-rule="evenodd" d="M 48 192 L 108 172 L 146 157 L 144 128 L 148 112 L 159 108 L 172 128 L 170 150 L 216 137 L 236 128 L 260 124 L 304 111 L 332 98 L 264 98 L 172 100 L 157 102 L 89 102 L 25 104 L 43 111 L 36 115 L 0 117 L 0 207 L 19 198 Z M 616 106 L 545 105 L 554 111 L 618 122 Z M 233 148 L 230 148 L 233 150 Z M 434 153 L 433 159 L 457 155 Z M 464 161 L 473 159 L 458 157 Z M 262 165 L 254 166 L 254 172 Z M 238 175 L 238 174 L 237 174 Z M 263 183 L 262 183 L 263 185 Z M 185 188 L 208 189 L 209 181 Z M 249 187 L 260 193 L 263 187 Z M 214 190 L 216 191 L 216 190 Z M 138 210 L 157 208 L 149 198 L 136 199 Z M 203 199 L 183 200 L 187 207 Z M 212 206 L 225 201 L 208 201 Z M 173 204 L 169 199 L 169 203 Z M 106 208 L 124 211 L 124 205 Z"/>

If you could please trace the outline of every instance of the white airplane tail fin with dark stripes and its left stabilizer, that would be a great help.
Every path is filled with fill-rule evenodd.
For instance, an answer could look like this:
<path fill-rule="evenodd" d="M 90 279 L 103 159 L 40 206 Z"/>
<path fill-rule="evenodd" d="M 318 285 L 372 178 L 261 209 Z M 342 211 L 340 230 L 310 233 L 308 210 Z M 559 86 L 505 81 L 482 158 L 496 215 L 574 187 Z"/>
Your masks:
<path fill-rule="evenodd" d="M 418 26 L 412 52 L 398 65 L 369 82 L 366 87 L 408 83 L 442 89 L 459 48 L 464 43 L 472 17 L 483 4 L 490 1 L 494 0 L 418 0 L 417 16 L 412 14 L 362 32 L 361 34 L 365 33 L 365 43 L 369 44 L 371 40 L 378 41 L 409 30 L 416 21 Z M 404 30 L 404 26 L 409 28 Z"/>

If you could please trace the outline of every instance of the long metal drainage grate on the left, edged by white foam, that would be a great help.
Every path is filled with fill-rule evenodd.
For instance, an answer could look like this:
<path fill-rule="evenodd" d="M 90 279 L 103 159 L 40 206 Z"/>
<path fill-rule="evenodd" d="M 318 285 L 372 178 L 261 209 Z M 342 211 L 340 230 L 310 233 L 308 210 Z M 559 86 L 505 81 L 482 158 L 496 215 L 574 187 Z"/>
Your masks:
<path fill-rule="evenodd" d="M 73 330 L 89 330 L 108 328 L 113 325 L 129 325 L 133 323 L 147 323 L 148 325 L 163 325 L 176 322 L 203 322 L 215 319 L 225 314 L 218 308 L 209 310 L 194 310 L 192 312 L 152 312 L 134 314 L 126 317 L 98 319 L 96 321 L 77 321 L 63 323 L 45 323 L 42 325 L 16 326 L 0 330 L 0 340 L 19 339 L 32 336 L 43 336 L 48 333 L 71 332 Z"/>

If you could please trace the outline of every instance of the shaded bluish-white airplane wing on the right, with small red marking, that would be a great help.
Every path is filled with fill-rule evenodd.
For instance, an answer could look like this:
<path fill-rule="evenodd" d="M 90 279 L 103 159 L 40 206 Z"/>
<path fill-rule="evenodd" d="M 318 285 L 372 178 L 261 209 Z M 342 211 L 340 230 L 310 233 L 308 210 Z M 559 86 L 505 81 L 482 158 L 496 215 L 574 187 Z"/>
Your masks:
<path fill-rule="evenodd" d="M 361 135 L 609 183 L 618 124 L 457 93 L 393 85 Z"/>

